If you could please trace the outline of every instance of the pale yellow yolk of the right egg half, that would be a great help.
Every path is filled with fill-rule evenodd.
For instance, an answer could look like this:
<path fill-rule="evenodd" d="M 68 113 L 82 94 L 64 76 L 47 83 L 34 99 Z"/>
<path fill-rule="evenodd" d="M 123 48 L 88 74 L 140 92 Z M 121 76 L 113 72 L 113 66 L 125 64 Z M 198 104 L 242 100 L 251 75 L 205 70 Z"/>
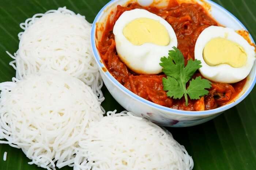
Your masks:
<path fill-rule="evenodd" d="M 247 55 L 239 44 L 222 37 L 211 39 L 203 51 L 204 61 L 209 66 L 229 64 L 231 67 L 245 66 Z"/>

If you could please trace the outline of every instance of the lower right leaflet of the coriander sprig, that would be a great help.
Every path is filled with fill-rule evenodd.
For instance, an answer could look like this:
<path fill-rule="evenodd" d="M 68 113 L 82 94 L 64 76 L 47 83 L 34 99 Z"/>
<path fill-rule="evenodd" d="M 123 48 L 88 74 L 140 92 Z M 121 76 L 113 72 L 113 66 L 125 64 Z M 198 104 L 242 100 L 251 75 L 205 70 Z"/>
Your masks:
<path fill-rule="evenodd" d="M 189 82 L 187 93 L 191 99 L 200 99 L 201 96 L 207 95 L 209 92 L 205 88 L 211 88 L 211 82 L 201 79 L 201 76 L 199 76 Z"/>

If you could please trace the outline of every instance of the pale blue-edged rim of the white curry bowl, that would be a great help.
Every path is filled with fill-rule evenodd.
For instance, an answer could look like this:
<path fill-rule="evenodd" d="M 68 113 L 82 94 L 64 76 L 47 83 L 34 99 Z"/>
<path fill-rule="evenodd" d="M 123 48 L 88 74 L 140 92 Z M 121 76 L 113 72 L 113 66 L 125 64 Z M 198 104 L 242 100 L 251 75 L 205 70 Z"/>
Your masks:
<path fill-rule="evenodd" d="M 95 33 L 96 33 L 96 23 L 98 22 L 99 18 L 102 16 L 102 14 L 105 12 L 105 9 L 109 7 L 109 5 L 117 2 L 119 0 L 111 0 L 109 1 L 109 3 L 107 3 L 97 14 L 97 16 L 95 17 L 93 24 L 92 24 L 92 29 L 91 29 L 91 47 L 93 50 L 93 54 L 94 54 L 94 58 L 98 64 L 99 69 L 101 70 L 102 67 L 105 67 L 105 65 L 103 63 L 100 62 L 101 57 L 98 53 L 97 47 L 96 47 L 96 42 L 95 42 Z M 227 13 L 228 15 L 230 15 L 231 17 L 233 17 L 233 19 L 235 19 L 246 31 L 248 31 L 246 29 L 246 27 L 244 26 L 244 24 L 241 23 L 240 20 L 237 19 L 237 17 L 235 17 L 231 12 L 229 12 L 227 9 L 225 9 L 224 7 L 222 7 L 221 5 L 211 1 L 211 0 L 204 0 L 206 3 L 210 4 L 211 6 L 215 5 L 217 8 L 220 8 L 222 11 L 224 11 L 225 13 Z M 251 34 L 249 34 L 249 37 L 252 41 L 252 43 L 255 44 L 255 41 L 253 40 Z M 255 67 L 255 63 L 254 63 L 254 67 Z M 255 69 L 256 70 L 256 69 Z M 212 110 L 206 110 L 206 111 L 184 111 L 184 110 L 176 110 L 173 108 L 169 108 L 169 107 L 165 107 L 165 106 L 161 106 L 159 104 L 150 102 L 136 94 L 134 94 L 132 91 L 128 90 L 127 88 L 125 88 L 121 83 L 119 83 L 111 74 L 109 71 L 102 71 L 103 74 L 106 75 L 106 77 L 110 80 L 110 82 L 112 82 L 114 84 L 114 86 L 116 86 L 119 90 L 121 90 L 122 92 L 124 92 L 126 95 L 130 96 L 131 98 L 135 99 L 137 102 L 143 103 L 148 105 L 149 107 L 154 107 L 157 108 L 160 111 L 164 111 L 167 112 L 168 114 L 176 114 L 176 115 L 181 115 L 181 116 L 207 116 L 207 115 L 213 115 L 213 114 L 217 114 L 223 111 L 228 110 L 231 107 L 236 106 L 238 103 L 240 103 L 242 100 L 244 100 L 246 98 L 246 96 L 248 96 L 250 94 L 250 92 L 252 91 L 253 87 L 255 86 L 256 83 L 256 71 L 253 77 L 253 81 L 252 83 L 249 85 L 248 89 L 244 92 L 244 94 L 242 94 L 236 101 L 226 104 L 225 106 L 221 106 Z"/>

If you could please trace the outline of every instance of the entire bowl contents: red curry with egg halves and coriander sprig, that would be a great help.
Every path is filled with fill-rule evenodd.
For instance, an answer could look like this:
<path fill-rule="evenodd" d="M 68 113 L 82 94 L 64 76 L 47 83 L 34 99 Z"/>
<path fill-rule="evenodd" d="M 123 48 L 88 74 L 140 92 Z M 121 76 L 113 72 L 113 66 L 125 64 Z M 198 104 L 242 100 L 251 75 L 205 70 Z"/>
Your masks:
<path fill-rule="evenodd" d="M 110 15 L 97 48 L 108 71 L 136 95 L 169 108 L 203 111 L 242 91 L 255 47 L 200 4 L 129 3 Z"/>

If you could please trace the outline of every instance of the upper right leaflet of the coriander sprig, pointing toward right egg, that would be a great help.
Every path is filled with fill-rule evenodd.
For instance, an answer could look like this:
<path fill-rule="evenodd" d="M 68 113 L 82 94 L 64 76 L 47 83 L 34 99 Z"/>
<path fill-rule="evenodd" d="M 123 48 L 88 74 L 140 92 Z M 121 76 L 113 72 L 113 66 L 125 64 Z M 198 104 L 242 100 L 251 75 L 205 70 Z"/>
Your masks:
<path fill-rule="evenodd" d="M 194 61 L 192 59 L 188 60 L 187 66 L 184 69 L 184 74 L 185 74 L 185 82 L 188 82 L 191 77 L 195 74 L 196 70 L 198 70 L 201 65 L 201 61 L 195 59 Z"/>

